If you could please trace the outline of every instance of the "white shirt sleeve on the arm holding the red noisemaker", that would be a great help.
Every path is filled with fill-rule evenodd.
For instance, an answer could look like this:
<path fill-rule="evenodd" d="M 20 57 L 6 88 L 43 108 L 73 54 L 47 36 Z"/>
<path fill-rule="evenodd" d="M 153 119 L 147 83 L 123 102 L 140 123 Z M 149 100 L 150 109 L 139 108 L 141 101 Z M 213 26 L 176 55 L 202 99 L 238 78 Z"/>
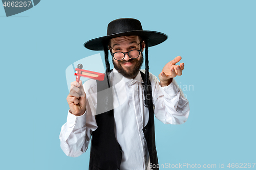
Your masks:
<path fill-rule="evenodd" d="M 75 116 L 68 112 L 67 122 L 61 127 L 59 139 L 60 148 L 70 157 L 78 157 L 87 151 L 92 131 L 97 129 L 95 116 L 92 115 L 87 94 L 86 112 L 81 116 Z"/>

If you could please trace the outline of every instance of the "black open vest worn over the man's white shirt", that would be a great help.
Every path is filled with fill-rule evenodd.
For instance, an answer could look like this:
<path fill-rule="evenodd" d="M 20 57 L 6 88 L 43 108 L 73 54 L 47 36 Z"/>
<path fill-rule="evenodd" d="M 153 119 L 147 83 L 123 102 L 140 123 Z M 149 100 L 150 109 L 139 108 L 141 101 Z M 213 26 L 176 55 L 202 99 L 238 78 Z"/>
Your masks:
<path fill-rule="evenodd" d="M 145 74 L 141 71 L 140 73 L 143 82 L 145 82 Z M 98 128 L 92 132 L 89 164 L 90 170 L 119 170 L 122 160 L 122 150 L 115 137 L 113 96 L 112 88 L 109 88 L 109 84 L 110 83 L 108 82 L 106 75 L 104 81 L 97 81 L 97 115 L 95 118 Z M 101 93 L 101 97 L 99 97 L 99 92 Z M 152 93 L 152 91 L 150 92 Z M 102 98 L 102 96 L 105 96 L 105 98 Z M 103 110 L 109 111 L 104 112 Z M 143 128 L 143 133 L 146 139 L 147 149 L 150 154 L 150 162 L 152 165 L 157 165 L 158 159 L 155 144 L 154 110 L 152 100 L 151 107 L 148 108 L 148 110 L 148 123 Z M 159 168 L 152 169 L 156 170 Z"/>

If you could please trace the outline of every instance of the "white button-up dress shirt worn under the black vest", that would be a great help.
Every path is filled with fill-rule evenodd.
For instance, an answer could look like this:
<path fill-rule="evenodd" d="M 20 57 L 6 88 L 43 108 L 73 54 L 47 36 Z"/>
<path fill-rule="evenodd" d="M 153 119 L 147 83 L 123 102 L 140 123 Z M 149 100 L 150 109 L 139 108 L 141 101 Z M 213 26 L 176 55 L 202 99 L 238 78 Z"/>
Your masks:
<path fill-rule="evenodd" d="M 145 70 L 141 70 L 145 72 Z M 121 81 L 117 81 L 121 78 Z M 122 149 L 121 170 L 150 169 L 150 158 L 142 131 L 148 122 L 144 106 L 143 80 L 140 72 L 134 79 L 122 77 L 114 68 L 109 75 L 114 103 L 115 135 Z M 189 114 L 189 105 L 182 90 L 173 79 L 166 87 L 159 85 L 150 73 L 154 113 L 164 124 L 183 124 Z M 97 85 L 95 80 L 83 84 L 87 95 L 87 110 L 81 116 L 68 113 L 67 123 L 61 127 L 60 147 L 67 156 L 78 157 L 88 149 L 91 133 L 97 129 Z"/>

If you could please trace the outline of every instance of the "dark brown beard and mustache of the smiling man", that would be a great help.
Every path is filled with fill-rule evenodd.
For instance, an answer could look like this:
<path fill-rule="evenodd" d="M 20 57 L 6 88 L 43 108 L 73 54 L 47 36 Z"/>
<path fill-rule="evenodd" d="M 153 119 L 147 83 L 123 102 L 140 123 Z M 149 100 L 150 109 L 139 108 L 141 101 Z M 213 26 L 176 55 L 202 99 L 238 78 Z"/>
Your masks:
<path fill-rule="evenodd" d="M 142 55 L 142 54 L 141 54 L 141 59 L 140 59 L 140 60 L 138 60 L 138 58 L 136 58 L 136 59 L 130 59 L 130 60 L 128 60 L 128 61 L 121 60 L 121 61 L 117 61 L 118 64 L 115 64 L 114 58 L 112 58 L 112 61 L 113 61 L 113 64 L 114 64 L 115 69 L 116 69 L 121 75 L 123 75 L 123 76 L 126 77 L 126 78 L 135 78 L 135 77 L 137 76 L 137 74 L 138 74 L 138 72 L 140 71 L 140 68 L 141 68 L 141 66 L 142 66 L 142 64 L 143 64 L 143 60 L 144 60 L 144 59 L 143 59 L 143 55 Z M 125 62 L 136 62 L 136 64 L 134 65 L 134 68 L 133 68 L 133 69 L 129 68 L 129 70 L 128 70 L 128 72 L 127 72 L 125 69 L 123 69 L 123 67 L 122 67 L 122 65 L 121 65 L 121 63 L 125 63 Z"/>

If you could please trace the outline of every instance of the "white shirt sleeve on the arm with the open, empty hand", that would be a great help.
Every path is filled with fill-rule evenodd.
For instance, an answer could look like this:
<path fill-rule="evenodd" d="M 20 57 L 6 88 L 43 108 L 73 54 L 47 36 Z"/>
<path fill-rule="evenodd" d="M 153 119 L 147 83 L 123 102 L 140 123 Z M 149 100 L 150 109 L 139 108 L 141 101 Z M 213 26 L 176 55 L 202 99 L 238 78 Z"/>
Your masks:
<path fill-rule="evenodd" d="M 157 77 L 151 74 L 151 82 L 156 118 L 164 124 L 185 123 L 189 104 L 175 79 L 168 86 L 161 87 Z"/>

